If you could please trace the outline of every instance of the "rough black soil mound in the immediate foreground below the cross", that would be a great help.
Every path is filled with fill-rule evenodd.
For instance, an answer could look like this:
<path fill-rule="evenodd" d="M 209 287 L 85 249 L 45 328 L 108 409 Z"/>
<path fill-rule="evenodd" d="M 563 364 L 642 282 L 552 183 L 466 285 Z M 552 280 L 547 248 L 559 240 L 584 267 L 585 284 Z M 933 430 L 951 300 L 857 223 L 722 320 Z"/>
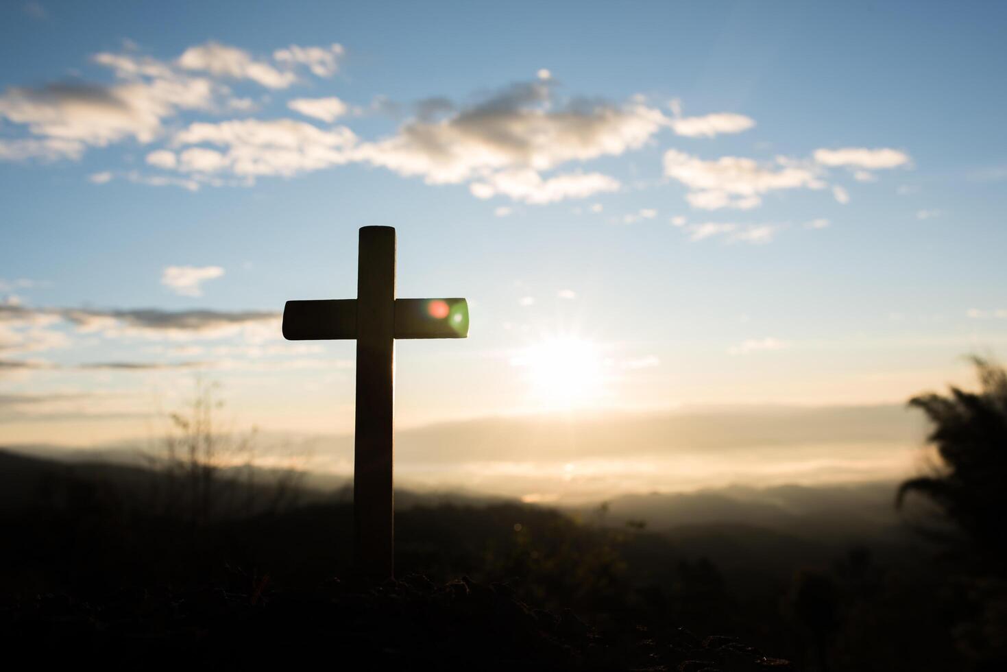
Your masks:
<path fill-rule="evenodd" d="M 8 652 L 44 664 L 140 661 L 248 667 L 324 659 L 351 669 L 792 670 L 735 638 L 634 623 L 586 625 L 531 609 L 506 584 L 422 574 L 312 591 L 123 589 L 103 603 L 39 595 L 0 618 Z"/>

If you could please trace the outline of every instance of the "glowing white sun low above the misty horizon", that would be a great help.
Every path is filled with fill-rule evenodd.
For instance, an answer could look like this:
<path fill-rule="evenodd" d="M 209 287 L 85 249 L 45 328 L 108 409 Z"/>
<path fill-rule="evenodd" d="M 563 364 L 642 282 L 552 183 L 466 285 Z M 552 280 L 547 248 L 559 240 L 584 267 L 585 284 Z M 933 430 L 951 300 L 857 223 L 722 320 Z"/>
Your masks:
<path fill-rule="evenodd" d="M 533 344 L 514 360 L 527 372 L 534 401 L 546 408 L 585 406 L 602 391 L 600 349 L 576 337 L 555 337 Z"/>

